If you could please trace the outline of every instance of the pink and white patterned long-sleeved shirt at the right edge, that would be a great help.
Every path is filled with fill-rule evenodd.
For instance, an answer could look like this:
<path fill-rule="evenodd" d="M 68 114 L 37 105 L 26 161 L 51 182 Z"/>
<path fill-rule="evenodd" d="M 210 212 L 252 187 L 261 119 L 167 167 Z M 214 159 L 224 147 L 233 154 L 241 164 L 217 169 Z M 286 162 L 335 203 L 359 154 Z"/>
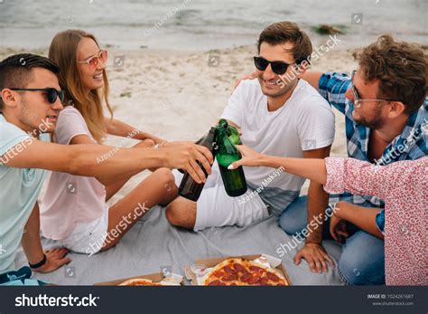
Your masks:
<path fill-rule="evenodd" d="M 353 158 L 325 161 L 328 193 L 374 195 L 386 203 L 386 284 L 428 285 L 428 157 L 387 166 Z"/>

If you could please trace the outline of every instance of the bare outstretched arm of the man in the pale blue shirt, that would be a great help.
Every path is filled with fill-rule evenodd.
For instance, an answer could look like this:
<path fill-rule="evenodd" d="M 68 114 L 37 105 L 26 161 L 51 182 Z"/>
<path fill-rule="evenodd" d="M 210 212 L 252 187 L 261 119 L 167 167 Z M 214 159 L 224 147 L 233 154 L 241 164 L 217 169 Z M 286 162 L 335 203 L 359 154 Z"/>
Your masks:
<path fill-rule="evenodd" d="M 18 146 L 20 148 L 15 149 Z M 118 176 L 133 176 L 154 167 L 181 168 L 198 183 L 204 182 L 206 178 L 197 160 L 208 173 L 211 172 L 212 154 L 206 147 L 190 143 L 155 149 L 96 144 L 59 145 L 36 139 L 25 140 L 0 157 L 0 162 L 5 162 L 8 167 L 42 168 L 76 176 L 95 176 L 106 184 L 115 182 Z"/>

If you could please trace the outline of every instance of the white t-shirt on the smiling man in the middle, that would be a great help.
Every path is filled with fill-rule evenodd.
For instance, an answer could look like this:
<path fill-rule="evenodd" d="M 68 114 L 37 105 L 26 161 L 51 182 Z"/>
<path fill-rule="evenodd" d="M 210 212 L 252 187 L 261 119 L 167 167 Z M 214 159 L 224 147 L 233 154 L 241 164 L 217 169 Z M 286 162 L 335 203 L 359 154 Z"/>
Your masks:
<path fill-rule="evenodd" d="M 267 97 L 257 79 L 241 81 L 228 100 L 221 118 L 242 129 L 242 143 L 259 153 L 277 157 L 303 157 L 304 150 L 330 146 L 334 139 L 334 114 L 327 100 L 299 80 L 284 106 L 267 110 Z M 247 184 L 260 194 L 275 214 L 300 194 L 304 178 L 283 169 L 244 167 Z"/>

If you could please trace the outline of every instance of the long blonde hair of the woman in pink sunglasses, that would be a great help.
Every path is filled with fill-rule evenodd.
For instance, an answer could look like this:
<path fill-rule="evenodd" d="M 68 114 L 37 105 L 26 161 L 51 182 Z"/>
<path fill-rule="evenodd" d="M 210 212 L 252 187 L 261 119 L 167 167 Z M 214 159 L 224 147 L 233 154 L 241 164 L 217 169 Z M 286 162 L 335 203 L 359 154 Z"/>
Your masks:
<path fill-rule="evenodd" d="M 89 93 L 84 89 L 80 80 L 77 62 L 78 44 L 82 38 L 91 38 L 98 45 L 97 39 L 91 33 L 80 30 L 67 30 L 57 33 L 53 37 L 49 48 L 49 59 L 56 62 L 60 67 L 58 79 L 60 88 L 65 90 L 64 105 L 73 105 L 79 110 L 88 125 L 90 134 L 101 144 L 107 136 L 103 100 L 113 119 L 113 110 L 108 102 L 107 73 L 103 71 L 103 89 L 90 90 Z"/>

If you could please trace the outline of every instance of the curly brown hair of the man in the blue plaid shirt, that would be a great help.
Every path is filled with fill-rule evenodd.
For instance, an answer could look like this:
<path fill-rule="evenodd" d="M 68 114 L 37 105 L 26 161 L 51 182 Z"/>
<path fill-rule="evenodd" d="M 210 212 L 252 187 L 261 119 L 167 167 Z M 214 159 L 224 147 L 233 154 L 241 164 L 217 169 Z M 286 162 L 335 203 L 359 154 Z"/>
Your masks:
<path fill-rule="evenodd" d="M 379 81 L 378 98 L 403 102 L 409 115 L 423 105 L 428 69 L 426 55 L 419 45 L 395 42 L 386 34 L 354 53 L 354 57 L 365 81 Z"/>

